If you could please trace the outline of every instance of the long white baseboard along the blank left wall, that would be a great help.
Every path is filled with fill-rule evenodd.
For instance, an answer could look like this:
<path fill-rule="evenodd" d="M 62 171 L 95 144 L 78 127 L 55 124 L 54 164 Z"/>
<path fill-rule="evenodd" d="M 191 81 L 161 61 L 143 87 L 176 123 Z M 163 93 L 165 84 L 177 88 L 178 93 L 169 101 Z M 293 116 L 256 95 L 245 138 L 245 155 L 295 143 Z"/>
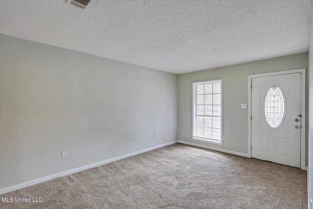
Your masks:
<path fill-rule="evenodd" d="M 118 160 L 121 160 L 121 159 L 124 159 L 124 158 L 128 158 L 128 157 L 131 157 L 131 156 L 134 156 L 134 155 L 138 155 L 138 154 L 141 154 L 141 153 L 144 153 L 144 152 L 148 152 L 150 150 L 154 150 L 154 149 L 157 149 L 157 148 L 160 148 L 160 147 L 164 147 L 164 146 L 168 146 L 168 145 L 171 145 L 171 144 L 175 144 L 177 142 L 178 142 L 177 140 L 176 141 L 171 141 L 171 142 L 168 142 L 168 143 L 165 143 L 165 144 L 161 144 L 161 145 L 157 145 L 157 146 L 150 147 L 150 148 L 147 148 L 147 149 L 139 150 L 139 151 L 136 151 L 136 152 L 132 152 L 132 153 L 129 153 L 129 154 L 126 154 L 126 155 L 118 156 L 118 157 L 115 157 L 115 158 L 111 158 L 111 159 L 108 159 L 108 160 L 105 160 L 105 161 L 101 161 L 101 162 L 98 162 L 98 163 L 92 163 L 92 164 L 85 165 L 85 166 L 82 166 L 82 167 L 78 167 L 78 168 L 74 168 L 74 169 L 71 169 L 71 170 L 67 170 L 67 171 L 64 171 L 64 172 L 61 172 L 61 173 L 56 173 L 56 174 L 53 174 L 53 175 L 50 175 L 50 176 L 46 176 L 46 177 L 43 177 L 43 178 L 40 178 L 40 179 L 35 179 L 35 180 L 29 181 L 29 182 L 25 182 L 25 183 L 22 183 L 22 184 L 19 184 L 19 185 L 5 187 L 5 188 L 0 189 L 0 194 L 4 194 L 4 193 L 10 192 L 10 191 L 14 191 L 14 190 L 17 190 L 17 189 L 20 189 L 20 188 L 24 188 L 26 186 L 36 185 L 36 184 L 39 184 L 39 183 L 42 183 L 42 182 L 45 182 L 45 181 L 48 181 L 48 180 L 51 180 L 51 179 L 55 179 L 55 178 L 58 178 L 58 177 L 61 177 L 61 176 L 66 176 L 66 175 L 69 175 L 69 174 L 77 173 L 79 171 L 87 170 L 89 168 L 96 167 L 96 166 L 99 166 L 99 165 L 103 165 L 103 164 L 106 164 L 106 163 L 111 163 L 111 162 L 114 162 L 114 161 L 118 161 Z"/>

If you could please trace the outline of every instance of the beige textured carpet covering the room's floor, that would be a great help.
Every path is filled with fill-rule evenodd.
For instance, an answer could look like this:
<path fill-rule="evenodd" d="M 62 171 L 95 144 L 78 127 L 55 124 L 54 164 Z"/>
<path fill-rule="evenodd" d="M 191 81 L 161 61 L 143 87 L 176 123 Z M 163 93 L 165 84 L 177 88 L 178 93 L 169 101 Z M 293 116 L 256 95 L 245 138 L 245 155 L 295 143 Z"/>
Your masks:
<path fill-rule="evenodd" d="M 183 144 L 22 188 L 0 208 L 305 209 L 307 172 Z"/>

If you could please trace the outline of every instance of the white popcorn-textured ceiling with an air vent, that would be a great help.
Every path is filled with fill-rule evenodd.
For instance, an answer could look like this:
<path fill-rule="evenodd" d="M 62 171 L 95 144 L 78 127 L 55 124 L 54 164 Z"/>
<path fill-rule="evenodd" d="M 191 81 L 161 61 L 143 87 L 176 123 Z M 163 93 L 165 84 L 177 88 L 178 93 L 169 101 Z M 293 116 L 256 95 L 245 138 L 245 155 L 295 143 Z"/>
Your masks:
<path fill-rule="evenodd" d="M 310 0 L 1 0 L 0 33 L 173 73 L 308 51 Z"/>

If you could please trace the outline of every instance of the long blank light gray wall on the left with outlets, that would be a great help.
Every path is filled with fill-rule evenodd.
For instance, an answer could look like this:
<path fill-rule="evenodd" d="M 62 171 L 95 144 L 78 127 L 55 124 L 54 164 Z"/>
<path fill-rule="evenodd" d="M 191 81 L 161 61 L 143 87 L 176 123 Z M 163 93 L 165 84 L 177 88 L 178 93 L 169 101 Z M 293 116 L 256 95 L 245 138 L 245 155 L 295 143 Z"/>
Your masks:
<path fill-rule="evenodd" d="M 177 140 L 178 75 L 2 34 L 0 46 L 0 188 Z"/>

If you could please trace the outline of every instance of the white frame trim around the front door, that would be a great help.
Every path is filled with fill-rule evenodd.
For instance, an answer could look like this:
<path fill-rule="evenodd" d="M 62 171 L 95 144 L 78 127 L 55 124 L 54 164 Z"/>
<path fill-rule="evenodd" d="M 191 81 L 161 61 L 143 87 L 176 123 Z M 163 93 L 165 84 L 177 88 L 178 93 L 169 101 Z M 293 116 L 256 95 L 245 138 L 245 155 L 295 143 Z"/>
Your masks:
<path fill-rule="evenodd" d="M 268 72 L 262 74 L 255 74 L 255 75 L 248 75 L 248 157 L 251 158 L 251 139 L 252 139 L 252 120 L 251 120 L 251 110 L 252 110 L 252 90 L 251 90 L 251 83 L 252 78 L 257 77 L 267 77 L 272 75 L 285 75 L 285 74 L 293 74 L 293 73 L 301 73 L 301 134 L 300 134 L 300 168 L 305 170 L 306 167 L 306 148 L 305 148 L 305 131 L 306 131 L 306 113 L 305 113 L 305 102 L 306 102 L 306 83 L 305 83 L 305 72 L 306 69 L 296 69 L 296 70 L 284 70 L 284 71 L 277 71 L 277 72 Z"/>

